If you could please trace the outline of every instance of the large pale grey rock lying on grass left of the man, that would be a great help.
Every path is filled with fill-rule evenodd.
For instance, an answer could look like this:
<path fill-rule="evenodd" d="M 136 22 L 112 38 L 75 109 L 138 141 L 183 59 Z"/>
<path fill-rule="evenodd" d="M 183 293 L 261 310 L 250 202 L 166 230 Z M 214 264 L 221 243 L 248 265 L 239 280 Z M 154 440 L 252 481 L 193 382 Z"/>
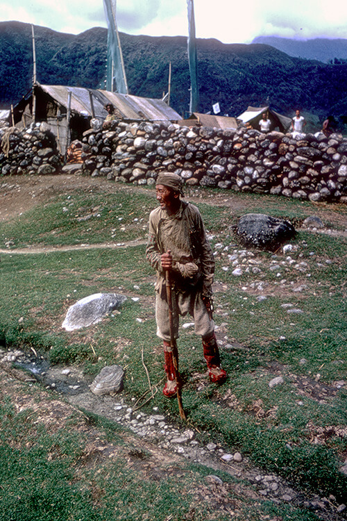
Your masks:
<path fill-rule="evenodd" d="M 67 310 L 62 328 L 66 331 L 74 331 L 96 324 L 112 310 L 120 308 L 124 301 L 126 296 L 117 293 L 95 293 L 78 300 Z"/>

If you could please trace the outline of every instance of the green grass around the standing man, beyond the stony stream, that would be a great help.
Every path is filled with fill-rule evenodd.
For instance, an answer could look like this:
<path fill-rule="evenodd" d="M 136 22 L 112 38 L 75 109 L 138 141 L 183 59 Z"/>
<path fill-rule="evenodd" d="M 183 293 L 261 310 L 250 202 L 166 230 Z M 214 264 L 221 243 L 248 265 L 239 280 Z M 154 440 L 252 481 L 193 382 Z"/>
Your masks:
<path fill-rule="evenodd" d="M 298 222 L 310 209 L 309 203 L 281 199 L 276 210 L 276 198 L 244 194 L 240 198 L 253 201 L 252 211 L 289 216 Z M 68 211 L 62 211 L 63 206 Z M 100 206 L 101 217 L 91 217 L 87 222 L 76 220 L 76 215 L 85 215 L 96 206 Z M 44 208 L 35 208 L 18 220 L 1 224 L 0 237 L 4 242 L 5 238 L 14 240 L 14 249 L 23 245 L 99 244 L 111 240 L 113 229 L 112 242 L 126 242 L 146 236 L 148 213 L 154 206 L 150 194 L 130 195 L 121 190 L 112 196 L 58 197 Z M 235 245 L 229 229 L 235 215 L 230 215 L 230 209 L 206 202 L 198 206 L 206 228 L 214 235 L 212 244 Z M 134 222 L 134 215 L 139 221 Z M 121 222 L 117 222 L 119 217 L 123 218 Z M 126 231 L 121 231 L 122 226 Z M 235 279 L 230 270 L 222 269 L 225 258 L 216 256 L 216 280 L 228 288 L 215 295 L 215 316 L 217 325 L 224 324 L 220 333 L 221 354 L 229 377 L 221 388 L 210 384 L 197 391 L 192 373 L 205 371 L 201 341 L 189 329 L 181 330 L 178 347 L 185 381 L 183 402 L 189 422 L 199 431 L 210 431 L 226 448 L 239 448 L 257 465 L 282 474 L 297 486 L 342 498 L 346 476 L 337 469 L 343 463 L 346 438 L 332 431 L 324 443 L 316 445 L 313 440 L 319 428 L 346 427 L 346 394 L 343 390 L 328 392 L 322 402 L 310 393 L 298 392 L 297 382 L 309 379 L 311 385 L 319 381 L 321 386 L 330 386 L 346 377 L 346 303 L 342 285 L 346 280 L 346 243 L 329 235 L 301 232 L 293 244 L 299 249 L 292 256 L 307 263 L 311 276 L 287 270 L 283 275 L 287 280 L 285 287 L 290 289 L 291 281 L 296 282 L 301 276 L 307 290 L 283 297 L 276 274 L 264 270 L 262 281 L 269 284 L 273 295 L 262 302 L 242 289 L 259 276 L 248 273 Z M 46 254 L 12 251 L 1 255 L 0 340 L 7 347 L 34 347 L 52 363 L 82 364 L 90 375 L 104 365 L 127 365 L 124 396 L 139 399 L 148 389 L 142 351 L 151 382 L 157 383 L 163 376 L 162 358 L 158 357 L 160 340 L 155 337 L 154 274 L 145 261 L 144 249 L 144 245 L 137 245 Z M 271 253 L 255 254 L 262 265 L 271 261 Z M 327 258 L 330 264 L 325 263 Z M 91 329 L 73 334 L 63 331 L 60 325 L 68 306 L 94 292 L 120 292 L 128 295 L 128 300 L 120 314 L 106 317 Z M 133 296 L 139 297 L 139 301 L 133 301 Z M 288 301 L 303 313 L 289 316 L 282 308 L 283 302 Z M 239 347 L 226 347 L 235 340 Z M 285 383 L 270 390 L 268 383 L 278 375 L 276 370 Z M 317 374 L 320 377 L 315 380 Z M 228 389 L 235 396 L 235 406 L 228 406 L 223 399 Z M 256 414 L 255 404 L 260 404 L 261 415 Z M 149 404 L 153 406 L 173 420 L 178 417 L 176 401 L 164 399 L 161 393 Z M 29 457 L 26 454 L 25 458 Z M 21 472 L 25 473 L 25 469 Z M 115 479 L 119 471 L 115 466 L 109 472 Z M 133 479 L 130 474 L 124 478 L 129 482 Z M 63 488 L 62 494 L 68 498 L 71 490 Z M 79 497 L 76 512 L 82 508 L 78 506 Z M 150 488 L 146 497 L 151 497 Z M 131 498 L 130 494 L 128 506 L 124 496 L 121 508 L 129 519 L 131 515 L 137 519 L 137 514 L 131 513 Z M 81 519 L 90 515 L 87 502 Z M 162 504 L 158 502 L 158 511 L 160 508 Z"/>

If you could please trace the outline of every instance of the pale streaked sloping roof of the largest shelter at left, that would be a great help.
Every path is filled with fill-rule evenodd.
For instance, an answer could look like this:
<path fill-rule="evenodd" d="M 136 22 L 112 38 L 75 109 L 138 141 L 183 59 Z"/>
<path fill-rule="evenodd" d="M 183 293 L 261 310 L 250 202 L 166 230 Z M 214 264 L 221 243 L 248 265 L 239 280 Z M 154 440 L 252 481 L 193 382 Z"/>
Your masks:
<path fill-rule="evenodd" d="M 176 110 L 167 106 L 161 99 L 142 98 L 99 89 L 65 87 L 64 85 L 39 85 L 39 87 L 65 108 L 67 108 L 68 95 L 71 92 L 71 111 L 78 114 L 92 116 L 91 93 L 95 117 L 105 117 L 107 112 L 103 107 L 107 103 L 112 103 L 124 119 L 141 121 L 177 121 L 180 119 Z"/>

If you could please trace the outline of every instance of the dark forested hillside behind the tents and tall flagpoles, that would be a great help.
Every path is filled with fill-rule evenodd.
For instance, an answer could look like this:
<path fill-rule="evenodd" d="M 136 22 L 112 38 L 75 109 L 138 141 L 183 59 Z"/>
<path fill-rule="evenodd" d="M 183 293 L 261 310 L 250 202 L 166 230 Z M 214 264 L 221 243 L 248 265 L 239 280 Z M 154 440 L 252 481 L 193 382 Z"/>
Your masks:
<path fill-rule="evenodd" d="M 161 98 L 172 65 L 171 106 L 189 108 L 187 40 L 121 33 L 130 94 Z M 37 81 L 104 88 L 107 30 L 79 35 L 35 26 Z M 0 108 L 16 103 L 31 88 L 33 53 L 30 24 L 0 23 Z M 239 115 L 248 105 L 270 104 L 292 115 L 298 107 L 319 119 L 347 115 L 347 64 L 292 58 L 265 44 L 222 44 L 198 40 L 200 111 L 219 102 L 221 113 Z"/>

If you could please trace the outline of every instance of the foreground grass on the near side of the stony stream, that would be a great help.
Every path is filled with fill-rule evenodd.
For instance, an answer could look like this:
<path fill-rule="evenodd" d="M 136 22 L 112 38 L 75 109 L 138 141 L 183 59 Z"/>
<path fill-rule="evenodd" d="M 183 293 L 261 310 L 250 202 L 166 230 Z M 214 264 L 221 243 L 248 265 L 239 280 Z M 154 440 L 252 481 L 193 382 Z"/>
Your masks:
<path fill-rule="evenodd" d="M 198 521 L 222 521 L 227 511 L 216 511 L 215 506 L 221 502 L 229 512 L 237 511 L 241 521 L 266 519 L 269 514 L 281 515 L 283 521 L 318 519 L 290 505 L 245 501 L 234 492 L 239 480 L 223 472 L 217 472 L 224 482 L 223 497 L 214 499 L 207 480 L 210 469 L 202 465 L 182 463 L 178 468 L 161 463 L 151 474 L 151 453 L 139 453 L 126 433 L 93 415 L 76 413 L 53 434 L 37 420 L 37 413 L 28 409 L 15 413 L 8 400 L 0 406 L 3 520 L 180 521 L 192 519 L 193 513 Z M 83 432 L 76 433 L 76 426 Z M 90 427 L 92 438 L 86 433 Z M 102 458 L 98 447 L 106 442 L 112 457 Z M 144 465 L 139 468 L 136 460 Z"/>

